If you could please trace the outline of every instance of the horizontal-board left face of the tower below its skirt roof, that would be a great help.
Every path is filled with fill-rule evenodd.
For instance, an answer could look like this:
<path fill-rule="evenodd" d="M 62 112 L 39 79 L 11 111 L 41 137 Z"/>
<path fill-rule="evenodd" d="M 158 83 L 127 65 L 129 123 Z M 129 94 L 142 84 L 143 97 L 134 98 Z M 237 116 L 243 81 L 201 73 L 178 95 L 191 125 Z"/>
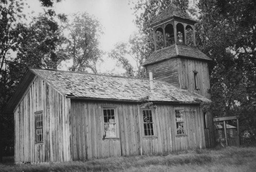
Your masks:
<path fill-rule="evenodd" d="M 170 84 L 173 84 L 176 87 L 180 87 L 176 58 L 147 65 L 145 67 L 146 74 L 152 71 L 154 79 L 163 80 Z M 147 75 L 147 78 L 148 77 L 149 76 Z"/>

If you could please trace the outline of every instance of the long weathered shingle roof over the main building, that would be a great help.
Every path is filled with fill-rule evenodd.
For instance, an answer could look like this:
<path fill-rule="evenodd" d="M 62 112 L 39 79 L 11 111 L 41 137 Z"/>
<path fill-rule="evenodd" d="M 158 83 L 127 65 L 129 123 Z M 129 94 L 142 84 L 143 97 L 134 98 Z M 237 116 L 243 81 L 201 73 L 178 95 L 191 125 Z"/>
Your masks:
<path fill-rule="evenodd" d="M 205 97 L 182 90 L 164 81 L 155 80 L 155 91 L 150 92 L 148 79 L 93 75 L 89 73 L 30 69 L 35 75 L 52 85 L 62 94 L 74 98 L 139 101 L 149 95 L 150 101 L 199 103 Z"/>

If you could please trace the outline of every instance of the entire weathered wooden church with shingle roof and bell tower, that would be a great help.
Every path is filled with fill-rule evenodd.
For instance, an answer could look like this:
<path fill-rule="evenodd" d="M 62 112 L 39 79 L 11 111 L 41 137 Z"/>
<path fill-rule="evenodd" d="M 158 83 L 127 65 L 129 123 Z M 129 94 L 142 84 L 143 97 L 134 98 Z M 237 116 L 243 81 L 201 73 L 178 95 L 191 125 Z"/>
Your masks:
<path fill-rule="evenodd" d="M 212 146 L 211 118 L 200 106 L 210 102 L 211 59 L 195 47 L 194 24 L 174 5 L 153 21 L 149 79 L 29 68 L 5 110 L 14 114 L 15 162 Z"/>

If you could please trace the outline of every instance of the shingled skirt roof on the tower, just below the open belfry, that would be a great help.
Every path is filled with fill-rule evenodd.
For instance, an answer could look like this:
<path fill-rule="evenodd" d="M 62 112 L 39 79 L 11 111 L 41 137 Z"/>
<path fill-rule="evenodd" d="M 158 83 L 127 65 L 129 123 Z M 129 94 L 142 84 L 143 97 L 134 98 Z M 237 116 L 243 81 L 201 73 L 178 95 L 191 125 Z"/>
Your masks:
<path fill-rule="evenodd" d="M 191 59 L 201 59 L 211 61 L 211 58 L 203 54 L 198 48 L 186 45 L 171 45 L 153 52 L 143 63 L 143 65 L 152 64 L 165 59 L 174 57 L 186 57 Z"/>

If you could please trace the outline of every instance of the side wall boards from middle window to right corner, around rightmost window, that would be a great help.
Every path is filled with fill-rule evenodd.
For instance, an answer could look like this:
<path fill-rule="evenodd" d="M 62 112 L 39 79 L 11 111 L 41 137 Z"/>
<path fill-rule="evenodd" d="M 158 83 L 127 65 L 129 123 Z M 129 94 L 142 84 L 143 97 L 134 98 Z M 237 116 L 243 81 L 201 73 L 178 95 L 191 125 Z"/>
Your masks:
<path fill-rule="evenodd" d="M 175 108 L 192 112 L 185 113 L 185 135 L 183 136 L 178 136 L 176 133 Z M 198 106 L 157 105 L 154 115 L 156 137 L 143 138 L 144 154 L 205 148 L 203 114 Z M 142 114 L 139 116 L 142 120 Z"/>

